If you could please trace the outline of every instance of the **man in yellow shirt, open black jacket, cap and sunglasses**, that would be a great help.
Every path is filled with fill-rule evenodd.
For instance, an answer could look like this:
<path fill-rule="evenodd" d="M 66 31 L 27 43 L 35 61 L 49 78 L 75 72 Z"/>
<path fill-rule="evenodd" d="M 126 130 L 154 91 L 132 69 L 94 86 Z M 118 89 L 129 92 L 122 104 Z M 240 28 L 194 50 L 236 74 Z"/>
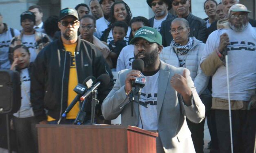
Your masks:
<path fill-rule="evenodd" d="M 62 9 L 58 26 L 60 39 L 51 42 L 38 54 L 32 69 L 31 103 L 40 123 L 56 124 L 77 95 L 73 89 L 89 76 L 97 78 L 109 74 L 111 77 L 108 87 L 98 89 L 100 103 L 113 87 L 113 75 L 101 52 L 77 36 L 80 26 L 77 11 Z M 90 108 L 86 108 L 86 120 L 90 118 Z M 79 103 L 76 103 L 62 124 L 72 124 L 78 111 Z"/>

